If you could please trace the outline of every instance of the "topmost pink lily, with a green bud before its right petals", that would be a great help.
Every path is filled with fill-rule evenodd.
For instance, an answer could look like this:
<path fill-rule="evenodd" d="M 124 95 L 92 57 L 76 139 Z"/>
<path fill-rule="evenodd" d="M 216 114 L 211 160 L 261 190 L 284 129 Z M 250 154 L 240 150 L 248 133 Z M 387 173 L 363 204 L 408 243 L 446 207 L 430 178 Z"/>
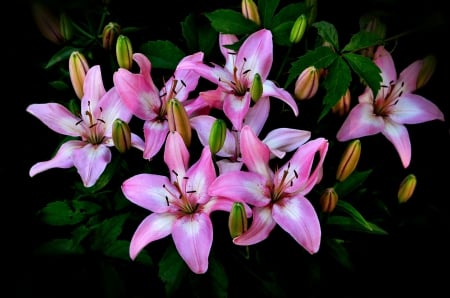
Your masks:
<path fill-rule="evenodd" d="M 297 116 L 298 107 L 291 94 L 267 79 L 273 62 L 272 32 L 261 29 L 251 34 L 237 53 L 225 47 L 237 41 L 235 35 L 219 35 L 220 49 L 225 57 L 223 67 L 215 63 L 211 67 L 198 61 L 183 61 L 179 64 L 180 69 L 193 70 L 217 84 L 217 89 L 201 92 L 199 99 L 212 107 L 222 108 L 233 127 L 240 130 L 251 104 L 250 87 L 255 75 L 259 74 L 263 88 L 259 100 L 268 101 L 269 96 L 276 97 L 289 105 Z"/>

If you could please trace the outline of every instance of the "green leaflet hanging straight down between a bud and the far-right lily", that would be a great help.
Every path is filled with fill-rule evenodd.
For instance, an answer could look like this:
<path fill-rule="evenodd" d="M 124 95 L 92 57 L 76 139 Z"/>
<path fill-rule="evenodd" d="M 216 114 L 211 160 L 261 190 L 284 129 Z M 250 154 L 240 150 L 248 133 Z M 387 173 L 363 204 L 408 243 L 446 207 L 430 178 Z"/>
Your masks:
<path fill-rule="evenodd" d="M 335 59 L 328 67 L 328 74 L 323 80 L 326 94 L 323 98 L 323 108 L 319 121 L 325 117 L 331 108 L 341 99 L 350 86 L 351 72 L 347 64 L 341 59 Z"/>

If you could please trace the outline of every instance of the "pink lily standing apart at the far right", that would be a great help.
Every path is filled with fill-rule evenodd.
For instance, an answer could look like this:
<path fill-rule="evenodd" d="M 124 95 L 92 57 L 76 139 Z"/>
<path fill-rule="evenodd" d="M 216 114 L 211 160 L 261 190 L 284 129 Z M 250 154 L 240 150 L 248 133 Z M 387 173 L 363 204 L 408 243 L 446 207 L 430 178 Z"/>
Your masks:
<path fill-rule="evenodd" d="M 444 121 L 442 111 L 428 99 L 414 94 L 423 60 L 406 67 L 397 77 L 391 54 L 379 46 L 374 63 L 381 70 L 381 89 L 374 97 L 366 88 L 350 111 L 336 138 L 341 141 L 382 133 L 395 147 L 403 167 L 411 161 L 411 141 L 405 124 Z"/>

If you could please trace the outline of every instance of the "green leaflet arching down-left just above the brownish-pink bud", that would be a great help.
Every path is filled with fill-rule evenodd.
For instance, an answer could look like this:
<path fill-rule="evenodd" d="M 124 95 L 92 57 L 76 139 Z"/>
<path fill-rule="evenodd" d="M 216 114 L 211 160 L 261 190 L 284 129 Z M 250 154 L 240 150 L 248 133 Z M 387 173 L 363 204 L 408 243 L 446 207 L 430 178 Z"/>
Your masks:
<path fill-rule="evenodd" d="M 289 69 L 289 77 L 286 81 L 285 88 L 289 86 L 293 80 L 297 79 L 305 68 L 311 65 L 316 68 L 326 68 L 330 66 L 331 63 L 333 63 L 333 61 L 338 57 L 338 54 L 333 52 L 333 50 L 329 47 L 318 47 L 305 53 L 292 63 L 291 68 Z"/>

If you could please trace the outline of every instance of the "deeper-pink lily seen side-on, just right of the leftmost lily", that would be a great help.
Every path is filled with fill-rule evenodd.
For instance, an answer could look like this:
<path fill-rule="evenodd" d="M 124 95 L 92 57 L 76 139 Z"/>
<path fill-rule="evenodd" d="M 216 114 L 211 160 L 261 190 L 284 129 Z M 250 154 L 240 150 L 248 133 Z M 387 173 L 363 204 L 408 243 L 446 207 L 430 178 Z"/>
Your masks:
<path fill-rule="evenodd" d="M 125 105 L 137 118 L 144 120 L 143 157 L 152 159 L 161 150 L 169 132 L 166 104 L 170 99 L 177 98 L 183 102 L 188 115 L 208 106 L 200 101 L 187 100 L 200 78 L 195 72 L 177 68 L 174 75 L 159 90 L 151 77 L 150 60 L 141 53 L 135 53 L 133 59 L 139 65 L 140 73 L 135 74 L 120 68 L 114 73 L 113 80 Z M 199 62 L 202 59 L 203 53 L 197 53 L 183 58 L 182 61 Z"/>

